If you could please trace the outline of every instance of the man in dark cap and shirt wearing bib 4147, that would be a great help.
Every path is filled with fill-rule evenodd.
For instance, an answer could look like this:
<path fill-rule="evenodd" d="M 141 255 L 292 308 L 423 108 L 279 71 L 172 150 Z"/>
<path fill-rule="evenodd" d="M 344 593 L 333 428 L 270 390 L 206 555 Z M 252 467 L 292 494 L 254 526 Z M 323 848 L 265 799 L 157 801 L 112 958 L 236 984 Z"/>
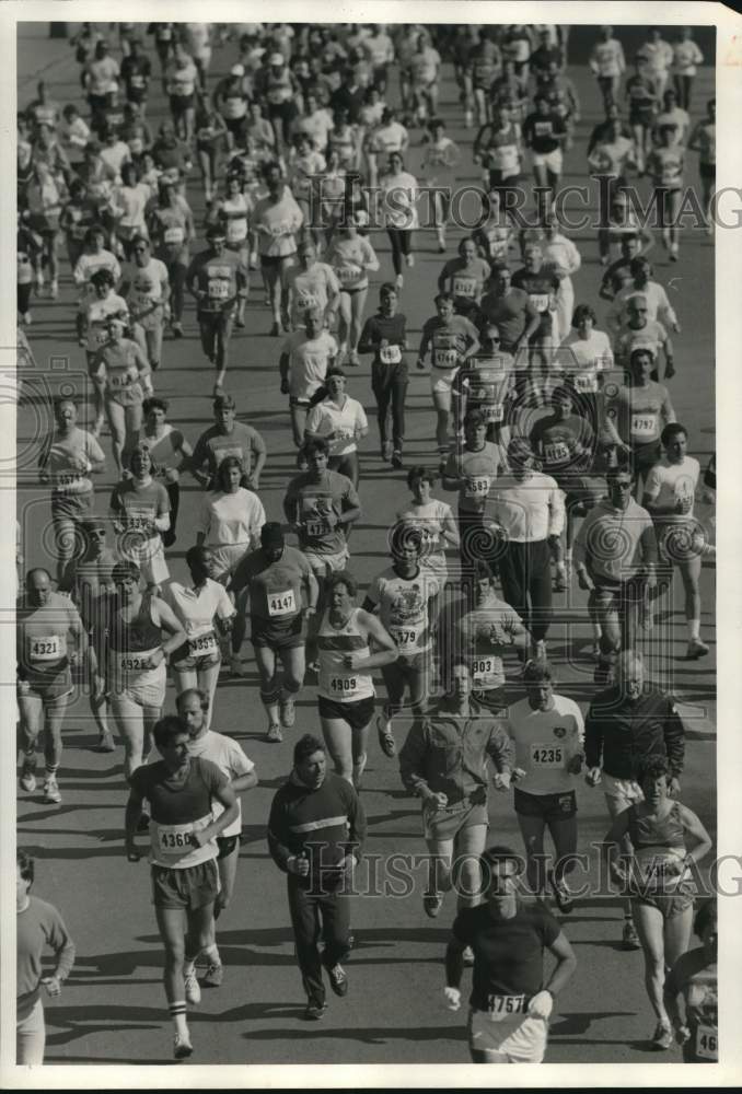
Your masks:
<path fill-rule="evenodd" d="M 268 521 L 260 528 L 260 547 L 240 562 L 229 590 L 239 608 L 235 630 L 243 633 L 250 603 L 260 700 L 268 714 L 266 740 L 280 742 L 281 726 L 290 729 L 297 717 L 294 701 L 305 672 L 304 625 L 317 609 L 317 580 L 304 554 L 287 547 L 280 524 Z"/>

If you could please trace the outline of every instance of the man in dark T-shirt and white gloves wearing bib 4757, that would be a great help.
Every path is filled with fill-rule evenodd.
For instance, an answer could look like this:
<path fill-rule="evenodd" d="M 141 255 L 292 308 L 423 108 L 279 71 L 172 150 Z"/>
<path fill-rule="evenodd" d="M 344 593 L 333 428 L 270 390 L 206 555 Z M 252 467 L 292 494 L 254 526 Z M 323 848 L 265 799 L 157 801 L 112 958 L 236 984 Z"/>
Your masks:
<path fill-rule="evenodd" d="M 459 912 L 445 952 L 445 1004 L 461 1006 L 464 951 L 474 951 L 468 1038 L 474 1063 L 541 1063 L 554 1002 L 577 968 L 558 922 L 518 895 L 521 859 L 508 847 L 482 857 L 485 903 Z M 544 950 L 556 967 L 544 984 Z"/>

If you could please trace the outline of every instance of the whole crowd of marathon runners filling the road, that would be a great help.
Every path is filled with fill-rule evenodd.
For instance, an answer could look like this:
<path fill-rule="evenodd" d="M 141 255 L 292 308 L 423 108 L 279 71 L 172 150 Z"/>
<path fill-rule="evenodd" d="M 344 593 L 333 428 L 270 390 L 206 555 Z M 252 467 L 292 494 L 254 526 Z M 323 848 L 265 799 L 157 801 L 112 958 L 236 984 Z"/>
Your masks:
<path fill-rule="evenodd" d="M 376 743 L 421 800 L 421 910 L 439 917 L 456 894 L 441 992 L 456 1010 L 473 965 L 473 1060 L 543 1059 L 579 962 L 563 917 L 583 850 L 582 779 L 605 794 L 603 853 L 625 897 L 623 943 L 644 951 L 651 1043 L 676 1038 L 686 1061 L 717 1059 L 716 906 L 696 899 L 695 869 L 711 840 L 682 804 L 683 722 L 638 649 L 675 583 L 687 659 L 709 652 L 699 578 L 714 547 L 696 507 L 712 502 L 716 472 L 688 454 L 696 439 L 673 409 L 673 344 L 693 317 L 676 314 L 652 259 L 664 249 L 682 263 L 688 187 L 709 214 L 715 101 L 698 101 L 694 77 L 712 58 L 688 30 L 649 28 L 626 57 L 621 34 L 595 27 L 589 65 L 605 117 L 583 164 L 600 194 L 588 244 L 603 267 L 596 312 L 571 280 L 584 240 L 581 252 L 559 220 L 581 116 L 568 30 L 82 24 L 69 39 L 76 101 L 39 82 L 20 103 L 22 338 L 33 353 L 35 300 L 56 300 L 71 279 L 89 377 L 88 400 L 55 401 L 42 446 L 53 557 L 19 545 L 20 791 L 40 782 L 45 803 L 62 802 L 66 710 L 88 696 L 97 748 L 124 756 L 123 853 L 135 863 L 149 850 L 176 1059 L 198 1047 L 187 1009 L 224 975 L 217 927 L 234 892 L 241 808 L 265 824 L 287 874 L 289 911 L 276 916 L 290 915 L 306 1017 L 326 1010 L 325 976 L 347 993 Z M 211 71 L 212 51 L 227 74 Z M 459 144 L 439 114 L 443 66 L 468 135 Z M 152 120 L 150 100 L 163 95 Z M 407 153 L 420 144 L 416 176 Z M 461 235 L 463 164 L 480 175 L 467 188 L 480 216 Z M 634 202 L 645 177 L 654 224 Z M 193 209 L 199 189 L 205 217 Z M 418 338 L 405 291 L 421 276 L 424 233 L 440 267 Z M 393 276 L 371 283 L 384 237 Z M 256 296 L 295 449 L 274 512 L 262 498 L 268 446 L 231 388 L 250 369 L 251 345 L 233 336 Z M 189 439 L 158 393 L 186 314 L 204 357 Z M 362 357 L 370 392 L 353 372 Z M 405 453 L 417 370 L 430 377 L 428 463 Z M 369 515 L 359 449 L 370 407 L 381 459 L 409 500 L 374 511 L 389 557 L 361 594 L 352 533 Z M 112 472 L 113 490 L 96 490 Z M 195 522 L 178 515 L 184 480 L 202 491 Z M 176 543 L 185 581 L 171 573 Z M 586 717 L 549 660 L 555 607 L 577 586 L 593 635 Z M 244 717 L 255 724 L 259 699 L 266 740 L 285 742 L 292 766 L 269 817 L 251 810 L 255 765 L 219 732 L 220 680 L 245 675 L 247 636 L 259 691 L 245 682 Z M 308 685 L 322 737 L 299 724 Z M 490 789 L 512 789 L 522 856 L 487 846 Z M 43 989 L 58 994 L 74 959 L 33 881 L 19 850 L 25 1063 L 44 1057 Z"/>

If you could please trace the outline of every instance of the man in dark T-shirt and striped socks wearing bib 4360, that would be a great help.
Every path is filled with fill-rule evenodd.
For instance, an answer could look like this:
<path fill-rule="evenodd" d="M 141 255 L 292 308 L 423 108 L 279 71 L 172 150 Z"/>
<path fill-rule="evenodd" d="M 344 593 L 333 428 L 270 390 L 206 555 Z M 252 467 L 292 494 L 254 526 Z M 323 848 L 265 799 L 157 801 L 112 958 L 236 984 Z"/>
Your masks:
<path fill-rule="evenodd" d="M 209 962 L 219 964 L 212 941 L 219 894 L 217 837 L 237 819 L 239 805 L 228 777 L 209 760 L 190 756 L 190 733 L 182 719 L 169 714 L 156 722 L 153 733 L 162 759 L 131 775 L 126 857 L 129 862 L 139 861 L 136 834 L 147 800 L 152 815 L 152 900 L 165 947 L 164 985 L 175 1031 L 174 1056 L 182 1060 L 194 1050 L 186 1003 L 198 1003 L 201 998 L 196 959 L 206 951 Z M 216 819 L 215 803 L 223 810 Z"/>

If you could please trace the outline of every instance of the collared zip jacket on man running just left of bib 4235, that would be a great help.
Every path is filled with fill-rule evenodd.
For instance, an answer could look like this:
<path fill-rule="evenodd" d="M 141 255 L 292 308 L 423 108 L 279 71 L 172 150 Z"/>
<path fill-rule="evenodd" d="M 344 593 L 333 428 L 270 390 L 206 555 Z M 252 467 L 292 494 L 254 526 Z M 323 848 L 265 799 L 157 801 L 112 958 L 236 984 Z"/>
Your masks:
<path fill-rule="evenodd" d="M 449 805 L 486 791 L 487 758 L 498 771 L 512 768 L 513 749 L 501 721 L 469 700 L 456 714 L 445 699 L 417 718 L 399 753 L 399 775 L 410 793 L 444 793 Z"/>

